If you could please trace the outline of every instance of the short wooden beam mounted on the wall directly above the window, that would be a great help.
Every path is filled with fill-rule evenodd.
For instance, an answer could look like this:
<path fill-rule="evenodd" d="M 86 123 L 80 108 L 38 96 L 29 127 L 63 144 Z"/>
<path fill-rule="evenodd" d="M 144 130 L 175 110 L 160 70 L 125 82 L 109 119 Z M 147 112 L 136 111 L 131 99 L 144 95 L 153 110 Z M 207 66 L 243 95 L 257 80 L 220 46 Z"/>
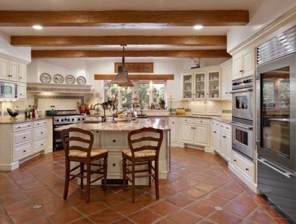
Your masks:
<path fill-rule="evenodd" d="M 115 75 L 110 75 L 110 74 L 95 74 L 95 80 L 112 80 L 115 77 Z M 128 75 L 130 80 L 134 81 L 139 81 L 139 80 L 157 80 L 157 81 L 162 81 L 162 80 L 174 80 L 174 75 Z"/>

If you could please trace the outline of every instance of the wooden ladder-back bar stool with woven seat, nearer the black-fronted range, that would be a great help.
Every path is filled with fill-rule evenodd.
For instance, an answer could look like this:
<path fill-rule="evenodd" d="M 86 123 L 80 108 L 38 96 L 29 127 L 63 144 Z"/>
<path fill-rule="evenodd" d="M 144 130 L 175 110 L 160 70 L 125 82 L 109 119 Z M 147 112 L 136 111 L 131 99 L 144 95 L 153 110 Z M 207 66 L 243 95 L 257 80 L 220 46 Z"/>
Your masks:
<path fill-rule="evenodd" d="M 76 133 L 79 135 L 88 135 L 89 139 L 85 139 L 78 136 L 71 136 L 72 133 Z M 68 137 L 69 134 L 69 137 Z M 77 142 L 78 145 L 68 146 L 67 143 Z M 86 200 L 85 202 L 89 202 L 89 193 L 90 193 L 90 184 L 104 178 L 104 186 L 103 189 L 106 191 L 107 189 L 107 158 L 108 152 L 107 149 L 92 149 L 94 142 L 94 135 L 89 130 L 83 130 L 80 128 L 68 128 L 62 130 L 62 142 L 65 149 L 65 157 L 66 157 L 66 175 L 65 175 L 65 189 L 64 189 L 64 200 L 67 199 L 69 182 L 76 177 L 80 177 L 80 187 L 83 188 L 83 178 L 86 178 Z M 76 143 L 76 144 L 77 144 Z M 88 144 L 87 147 L 84 145 Z M 75 143 L 74 143 L 75 144 Z M 80 146 L 83 145 L 83 146 Z M 93 164 L 92 161 L 100 160 L 104 158 L 104 164 Z M 80 162 L 79 165 L 75 166 L 70 170 L 70 162 Z M 84 169 L 84 164 L 86 164 L 87 169 Z M 91 166 L 100 166 L 97 170 L 91 170 Z M 80 168 L 80 172 L 77 174 L 71 174 L 72 171 Z M 84 176 L 84 172 L 86 172 L 86 176 Z M 90 181 L 91 174 L 102 174 L 100 177 L 96 178 L 93 181 Z"/>

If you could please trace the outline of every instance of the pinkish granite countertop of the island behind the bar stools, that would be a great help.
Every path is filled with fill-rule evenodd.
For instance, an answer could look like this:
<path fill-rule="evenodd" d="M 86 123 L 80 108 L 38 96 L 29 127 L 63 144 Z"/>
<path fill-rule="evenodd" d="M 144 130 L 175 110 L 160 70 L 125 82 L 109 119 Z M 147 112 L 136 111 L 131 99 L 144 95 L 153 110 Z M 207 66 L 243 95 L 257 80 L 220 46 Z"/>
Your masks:
<path fill-rule="evenodd" d="M 67 128 L 81 128 L 84 130 L 90 131 L 131 131 L 141 128 L 157 128 L 164 131 L 170 130 L 168 124 L 163 118 L 144 118 L 137 119 L 131 122 L 117 122 L 117 123 L 99 123 L 99 124 L 87 124 L 87 123 L 78 123 L 67 125 L 59 128 L 55 128 L 56 131 L 61 131 Z"/>

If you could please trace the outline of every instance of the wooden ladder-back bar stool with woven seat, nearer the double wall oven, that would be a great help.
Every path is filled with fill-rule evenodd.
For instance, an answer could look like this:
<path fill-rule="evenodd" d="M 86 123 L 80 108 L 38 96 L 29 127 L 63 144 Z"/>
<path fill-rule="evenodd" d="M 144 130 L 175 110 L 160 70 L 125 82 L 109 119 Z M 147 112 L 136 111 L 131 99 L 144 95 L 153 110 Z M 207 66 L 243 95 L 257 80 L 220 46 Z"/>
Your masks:
<path fill-rule="evenodd" d="M 159 137 L 140 137 L 137 139 L 132 139 L 133 135 L 143 133 L 145 135 L 148 132 L 158 133 Z M 151 187 L 151 177 L 155 180 L 155 191 L 156 198 L 159 198 L 158 189 L 158 154 L 159 149 L 163 139 L 163 131 L 161 129 L 155 128 L 141 128 L 138 130 L 132 130 L 128 133 L 128 144 L 130 149 L 122 150 L 122 170 L 123 170 L 123 188 L 126 189 L 126 179 L 132 183 L 132 202 L 135 202 L 135 178 L 139 177 L 149 177 L 149 187 Z M 146 144 L 146 141 L 157 142 L 157 146 L 152 144 Z M 134 143 L 141 143 L 140 147 L 133 147 Z M 155 145 L 155 143 L 154 143 Z M 126 164 L 126 160 L 131 161 L 131 164 Z M 152 166 L 152 161 L 155 161 L 154 167 Z M 137 165 L 148 165 L 148 169 L 135 170 Z M 128 167 L 131 166 L 132 169 Z M 152 173 L 152 170 L 154 173 Z M 135 175 L 136 173 L 148 172 L 148 174 Z M 127 174 L 131 174 L 132 178 L 128 177 Z"/>

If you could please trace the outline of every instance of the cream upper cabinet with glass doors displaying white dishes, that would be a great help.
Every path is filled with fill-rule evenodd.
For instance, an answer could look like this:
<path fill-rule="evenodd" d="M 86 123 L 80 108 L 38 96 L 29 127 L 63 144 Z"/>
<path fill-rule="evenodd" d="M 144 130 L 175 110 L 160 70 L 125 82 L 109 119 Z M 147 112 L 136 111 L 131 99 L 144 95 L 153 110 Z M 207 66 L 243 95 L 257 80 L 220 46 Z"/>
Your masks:
<path fill-rule="evenodd" d="M 220 67 L 193 69 L 183 71 L 182 92 L 184 100 L 217 100 L 221 99 L 221 70 Z"/>

